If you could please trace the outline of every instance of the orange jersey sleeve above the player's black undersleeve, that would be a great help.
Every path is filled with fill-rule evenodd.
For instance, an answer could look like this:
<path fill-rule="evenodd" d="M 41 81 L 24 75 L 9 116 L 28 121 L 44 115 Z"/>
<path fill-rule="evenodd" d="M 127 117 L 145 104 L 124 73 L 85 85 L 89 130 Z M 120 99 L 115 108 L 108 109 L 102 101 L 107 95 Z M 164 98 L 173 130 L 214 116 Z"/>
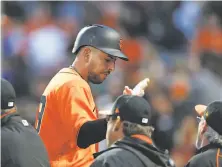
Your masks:
<path fill-rule="evenodd" d="M 74 137 L 76 142 L 80 127 L 87 121 L 95 120 L 96 113 L 91 92 L 82 87 L 71 87 L 64 98 L 64 113 L 61 113 L 65 131 Z"/>

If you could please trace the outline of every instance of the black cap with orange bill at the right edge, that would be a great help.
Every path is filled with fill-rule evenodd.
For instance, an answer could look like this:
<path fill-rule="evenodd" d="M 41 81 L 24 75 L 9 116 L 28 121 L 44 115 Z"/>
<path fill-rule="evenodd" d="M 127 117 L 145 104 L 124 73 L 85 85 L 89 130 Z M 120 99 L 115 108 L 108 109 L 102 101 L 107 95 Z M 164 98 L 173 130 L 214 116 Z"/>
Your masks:
<path fill-rule="evenodd" d="M 222 135 L 222 101 L 214 101 L 208 106 L 196 105 L 195 110 L 212 129 Z"/>

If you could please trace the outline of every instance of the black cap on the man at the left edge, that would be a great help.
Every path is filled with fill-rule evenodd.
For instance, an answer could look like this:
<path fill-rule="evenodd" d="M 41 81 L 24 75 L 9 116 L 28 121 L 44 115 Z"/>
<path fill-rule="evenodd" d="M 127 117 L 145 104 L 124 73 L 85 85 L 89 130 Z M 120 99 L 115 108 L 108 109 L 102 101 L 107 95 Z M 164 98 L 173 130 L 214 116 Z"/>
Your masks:
<path fill-rule="evenodd" d="M 1 109 L 15 107 L 16 94 L 10 82 L 1 78 Z"/>

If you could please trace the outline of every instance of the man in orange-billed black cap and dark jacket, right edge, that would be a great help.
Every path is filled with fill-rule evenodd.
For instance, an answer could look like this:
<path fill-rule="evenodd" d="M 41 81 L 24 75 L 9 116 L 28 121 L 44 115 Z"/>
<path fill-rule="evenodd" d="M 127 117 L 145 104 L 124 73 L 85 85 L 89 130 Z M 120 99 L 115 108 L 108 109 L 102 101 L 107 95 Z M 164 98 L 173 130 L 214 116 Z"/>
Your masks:
<path fill-rule="evenodd" d="M 195 107 L 200 120 L 196 147 L 197 155 L 186 167 L 222 167 L 222 102 Z"/>

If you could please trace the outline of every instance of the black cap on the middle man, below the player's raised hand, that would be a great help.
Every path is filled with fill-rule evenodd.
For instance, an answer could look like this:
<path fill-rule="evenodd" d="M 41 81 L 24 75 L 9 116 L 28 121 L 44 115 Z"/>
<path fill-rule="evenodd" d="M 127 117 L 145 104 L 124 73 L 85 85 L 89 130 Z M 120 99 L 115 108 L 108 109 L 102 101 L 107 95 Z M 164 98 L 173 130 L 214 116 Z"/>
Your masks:
<path fill-rule="evenodd" d="M 148 126 L 151 125 L 151 107 L 140 96 L 122 95 L 114 102 L 112 116 L 120 116 L 121 120 Z"/>

